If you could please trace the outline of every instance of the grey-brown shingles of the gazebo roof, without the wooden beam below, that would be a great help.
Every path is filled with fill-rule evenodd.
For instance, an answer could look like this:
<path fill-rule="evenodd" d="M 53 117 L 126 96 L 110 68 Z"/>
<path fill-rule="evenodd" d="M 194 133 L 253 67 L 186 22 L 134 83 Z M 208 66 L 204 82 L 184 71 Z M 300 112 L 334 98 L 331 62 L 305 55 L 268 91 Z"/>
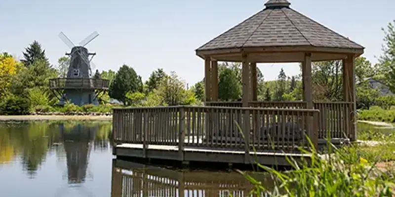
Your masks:
<path fill-rule="evenodd" d="M 265 9 L 207 42 L 197 51 L 269 46 L 364 49 L 293 10 L 288 0 L 269 0 L 265 5 Z"/>

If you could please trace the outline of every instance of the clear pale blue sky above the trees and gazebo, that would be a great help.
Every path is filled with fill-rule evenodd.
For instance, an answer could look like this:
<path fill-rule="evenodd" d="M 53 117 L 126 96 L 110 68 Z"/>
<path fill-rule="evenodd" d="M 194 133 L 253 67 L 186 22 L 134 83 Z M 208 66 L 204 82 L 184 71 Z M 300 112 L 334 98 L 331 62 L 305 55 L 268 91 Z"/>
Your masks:
<path fill-rule="evenodd" d="M 1 2 L 0 51 L 22 58 L 38 40 L 52 64 L 90 33 L 99 70 L 132 66 L 144 80 L 161 67 L 176 71 L 193 85 L 203 78 L 203 60 L 195 49 L 264 8 L 267 0 L 4 0 Z M 363 45 L 364 56 L 377 62 L 382 27 L 395 19 L 395 0 L 290 0 L 291 8 Z M 297 64 L 260 64 L 265 80 L 281 67 L 299 73 Z"/>

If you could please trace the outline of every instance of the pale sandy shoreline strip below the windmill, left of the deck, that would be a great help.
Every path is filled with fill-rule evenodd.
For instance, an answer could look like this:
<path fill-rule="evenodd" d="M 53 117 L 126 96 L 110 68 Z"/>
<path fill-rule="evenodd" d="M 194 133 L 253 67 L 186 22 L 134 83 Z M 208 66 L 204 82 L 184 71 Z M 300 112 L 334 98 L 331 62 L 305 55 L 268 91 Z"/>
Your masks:
<path fill-rule="evenodd" d="M 0 116 L 1 121 L 46 121 L 46 120 L 102 120 L 111 121 L 112 115 L 13 115 Z"/>

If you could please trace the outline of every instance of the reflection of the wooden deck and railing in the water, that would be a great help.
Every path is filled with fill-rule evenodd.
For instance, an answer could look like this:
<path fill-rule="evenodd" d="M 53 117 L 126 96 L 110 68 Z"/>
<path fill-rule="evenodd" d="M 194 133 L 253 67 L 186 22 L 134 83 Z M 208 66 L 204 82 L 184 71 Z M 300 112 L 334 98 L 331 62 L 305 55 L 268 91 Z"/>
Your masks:
<path fill-rule="evenodd" d="M 272 185 L 263 174 L 253 176 Z M 111 197 L 246 197 L 252 188 L 237 172 L 180 171 L 113 160 Z"/>

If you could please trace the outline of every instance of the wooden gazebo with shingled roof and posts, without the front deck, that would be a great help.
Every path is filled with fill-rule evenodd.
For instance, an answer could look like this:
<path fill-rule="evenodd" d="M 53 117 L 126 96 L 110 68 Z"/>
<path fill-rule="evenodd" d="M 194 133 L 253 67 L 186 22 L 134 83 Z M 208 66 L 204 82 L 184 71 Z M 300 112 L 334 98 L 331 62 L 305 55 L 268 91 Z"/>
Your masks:
<path fill-rule="evenodd" d="M 265 8 L 196 50 L 204 59 L 205 105 L 319 109 L 319 138 L 356 139 L 355 58 L 364 47 L 290 7 L 269 0 Z M 312 62 L 343 60 L 343 102 L 315 102 Z M 242 101 L 218 101 L 218 61 L 242 63 Z M 302 63 L 303 101 L 257 101 L 257 63 Z"/>

